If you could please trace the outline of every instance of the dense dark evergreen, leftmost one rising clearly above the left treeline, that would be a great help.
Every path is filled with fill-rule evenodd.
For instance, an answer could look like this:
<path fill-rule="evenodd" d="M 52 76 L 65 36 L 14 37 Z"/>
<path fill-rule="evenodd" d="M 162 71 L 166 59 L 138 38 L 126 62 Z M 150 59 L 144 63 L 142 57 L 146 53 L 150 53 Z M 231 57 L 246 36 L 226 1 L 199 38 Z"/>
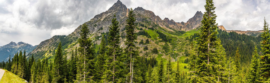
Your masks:
<path fill-rule="evenodd" d="M 38 65 L 39 66 L 39 65 Z M 64 83 L 64 63 L 61 42 L 55 51 L 53 71 L 53 82 Z"/>

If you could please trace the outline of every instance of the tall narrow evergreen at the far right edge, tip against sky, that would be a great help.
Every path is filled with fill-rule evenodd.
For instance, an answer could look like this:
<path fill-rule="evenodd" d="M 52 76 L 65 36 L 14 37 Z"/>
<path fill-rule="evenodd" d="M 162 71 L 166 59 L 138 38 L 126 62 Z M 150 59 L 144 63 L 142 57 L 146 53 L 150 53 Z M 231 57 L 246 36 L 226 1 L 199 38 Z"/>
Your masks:
<path fill-rule="evenodd" d="M 268 23 L 266 23 L 266 20 L 264 18 L 264 26 L 263 26 L 263 32 L 261 35 L 261 52 L 262 56 L 260 59 L 261 64 L 261 77 L 260 80 L 266 81 L 269 79 L 270 76 L 270 60 L 268 58 L 270 57 L 270 34 L 268 30 Z"/>

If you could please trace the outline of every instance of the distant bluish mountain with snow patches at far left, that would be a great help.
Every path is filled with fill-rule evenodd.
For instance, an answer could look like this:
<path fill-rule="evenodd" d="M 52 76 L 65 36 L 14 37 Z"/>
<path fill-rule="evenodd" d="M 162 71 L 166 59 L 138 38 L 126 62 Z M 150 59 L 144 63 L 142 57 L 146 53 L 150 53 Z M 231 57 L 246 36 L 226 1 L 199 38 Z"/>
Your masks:
<path fill-rule="evenodd" d="M 33 49 L 35 49 L 37 47 L 36 46 L 32 46 L 28 43 L 24 43 L 24 42 L 19 42 L 19 43 L 15 43 L 15 42 L 10 42 L 7 45 L 4 46 L 0 46 L 0 61 L 7 61 L 9 59 L 9 55 L 10 57 L 13 57 L 15 53 L 19 52 L 19 51 L 26 51 L 26 54 L 29 54 L 31 51 L 33 51 Z"/>

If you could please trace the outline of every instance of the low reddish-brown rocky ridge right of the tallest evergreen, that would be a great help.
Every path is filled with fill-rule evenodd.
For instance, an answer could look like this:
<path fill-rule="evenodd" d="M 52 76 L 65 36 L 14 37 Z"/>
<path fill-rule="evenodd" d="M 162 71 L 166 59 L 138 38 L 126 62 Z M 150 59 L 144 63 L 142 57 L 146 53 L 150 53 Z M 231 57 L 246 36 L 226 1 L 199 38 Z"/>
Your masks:
<path fill-rule="evenodd" d="M 222 26 L 222 25 L 221 26 L 217 26 L 217 27 L 218 27 L 218 29 L 223 30 L 223 31 L 226 31 L 226 32 L 236 32 L 238 34 L 245 34 L 245 35 L 251 35 L 251 36 L 258 36 L 258 35 L 260 35 L 263 32 L 263 30 L 259 30 L 259 31 L 226 30 L 224 28 L 224 26 Z"/>

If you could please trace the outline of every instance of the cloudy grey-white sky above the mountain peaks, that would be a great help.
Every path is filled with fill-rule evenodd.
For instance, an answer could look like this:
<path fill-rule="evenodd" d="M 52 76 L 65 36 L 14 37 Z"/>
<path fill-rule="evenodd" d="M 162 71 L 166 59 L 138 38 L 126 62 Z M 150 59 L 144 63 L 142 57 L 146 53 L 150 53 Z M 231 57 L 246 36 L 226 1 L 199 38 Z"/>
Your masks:
<path fill-rule="evenodd" d="M 117 0 L 0 0 L 0 46 L 13 42 L 38 45 L 54 35 L 68 35 L 80 24 L 108 10 Z M 204 0 L 121 0 L 161 19 L 186 22 L 205 11 Z M 227 30 L 261 30 L 270 21 L 269 0 L 214 0 L 217 23 Z"/>

